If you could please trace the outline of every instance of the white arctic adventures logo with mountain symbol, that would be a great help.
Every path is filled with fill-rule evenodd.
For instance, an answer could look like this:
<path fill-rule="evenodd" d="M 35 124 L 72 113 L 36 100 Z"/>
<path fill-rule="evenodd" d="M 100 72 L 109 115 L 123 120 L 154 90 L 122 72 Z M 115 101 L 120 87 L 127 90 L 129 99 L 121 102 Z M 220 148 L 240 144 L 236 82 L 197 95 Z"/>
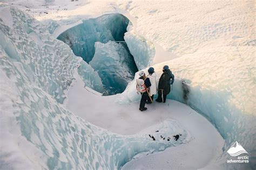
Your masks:
<path fill-rule="evenodd" d="M 237 141 L 230 147 L 230 149 L 227 151 L 228 154 L 230 154 L 232 157 L 237 157 L 237 159 L 230 159 L 227 160 L 227 163 L 249 163 L 249 157 L 247 155 L 240 156 L 238 155 L 242 153 L 247 153 L 244 147 L 242 147 Z"/>

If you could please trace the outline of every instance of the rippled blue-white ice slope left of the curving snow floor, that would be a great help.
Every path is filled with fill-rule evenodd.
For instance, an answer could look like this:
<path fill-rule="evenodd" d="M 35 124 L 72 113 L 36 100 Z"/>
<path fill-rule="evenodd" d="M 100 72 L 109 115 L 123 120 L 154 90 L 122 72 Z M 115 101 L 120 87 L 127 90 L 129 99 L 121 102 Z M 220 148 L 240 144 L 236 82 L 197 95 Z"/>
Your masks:
<path fill-rule="evenodd" d="M 168 135 L 184 134 L 166 142 L 145 133 L 114 134 L 72 114 L 62 102 L 80 58 L 37 20 L 3 8 L 10 10 L 14 25 L 5 25 L 1 16 L 1 169 L 119 169 L 140 152 L 163 151 L 189 140 L 173 121 L 155 126 Z M 80 69 L 91 70 L 83 62 Z M 93 84 L 90 75 L 83 79 Z M 97 76 L 95 84 L 100 88 Z"/>

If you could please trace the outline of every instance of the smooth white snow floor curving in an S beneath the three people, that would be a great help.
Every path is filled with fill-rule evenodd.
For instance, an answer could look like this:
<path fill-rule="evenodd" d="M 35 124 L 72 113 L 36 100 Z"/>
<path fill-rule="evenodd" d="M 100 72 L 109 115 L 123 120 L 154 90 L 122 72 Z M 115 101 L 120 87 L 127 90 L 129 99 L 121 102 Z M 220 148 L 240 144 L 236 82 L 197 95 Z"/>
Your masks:
<path fill-rule="evenodd" d="M 174 135 L 182 134 L 183 130 L 174 126 L 174 122 L 177 122 L 189 132 L 188 143 L 167 148 L 160 153 L 141 153 L 127 162 L 122 169 L 197 169 L 216 160 L 222 152 L 224 140 L 218 131 L 207 119 L 187 105 L 167 100 L 165 104 L 146 105 L 148 110 L 141 112 L 138 110 L 138 102 L 129 105 L 113 103 L 119 95 L 95 95 L 84 88 L 84 82 L 77 74 L 75 78 L 68 91 L 65 105 L 79 117 L 97 126 L 119 134 L 153 134 L 161 141 L 164 141 L 160 138 L 161 135 L 165 137 L 165 141 L 167 137 L 171 137 L 171 140 L 173 137 L 152 125 L 160 124 L 159 126 L 165 126 L 167 129 L 172 128 Z M 84 102 L 86 98 L 90 100 Z M 167 124 L 169 121 L 172 121 L 172 125 Z M 159 132 L 156 132 L 157 130 Z"/>

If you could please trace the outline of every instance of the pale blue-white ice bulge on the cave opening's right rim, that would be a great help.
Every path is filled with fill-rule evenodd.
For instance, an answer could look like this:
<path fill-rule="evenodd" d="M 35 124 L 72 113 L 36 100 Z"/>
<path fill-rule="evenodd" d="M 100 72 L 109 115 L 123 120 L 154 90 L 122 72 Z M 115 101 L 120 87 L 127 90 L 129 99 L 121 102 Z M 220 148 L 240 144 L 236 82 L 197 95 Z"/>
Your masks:
<path fill-rule="evenodd" d="M 150 66 L 153 61 L 154 54 L 156 53 L 152 42 L 139 37 L 138 34 L 134 32 L 132 24 L 127 26 L 127 32 L 125 33 L 124 39 L 130 49 L 130 53 L 133 55 L 138 69 Z"/>

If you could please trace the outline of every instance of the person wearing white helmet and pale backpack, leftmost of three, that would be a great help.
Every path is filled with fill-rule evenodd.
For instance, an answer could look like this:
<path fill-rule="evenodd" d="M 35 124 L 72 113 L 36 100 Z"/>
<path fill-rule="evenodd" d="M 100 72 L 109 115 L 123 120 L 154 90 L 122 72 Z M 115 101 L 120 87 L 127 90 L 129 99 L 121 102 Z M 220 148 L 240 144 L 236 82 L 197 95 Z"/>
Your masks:
<path fill-rule="evenodd" d="M 150 90 L 150 79 L 146 77 L 145 73 L 142 71 L 139 73 L 139 79 L 136 80 L 137 82 L 137 90 L 142 95 L 142 98 L 140 99 L 139 103 L 139 110 L 144 111 L 147 110 L 145 108 L 145 104 L 147 101 L 147 98 L 149 98 L 149 90 Z"/>

